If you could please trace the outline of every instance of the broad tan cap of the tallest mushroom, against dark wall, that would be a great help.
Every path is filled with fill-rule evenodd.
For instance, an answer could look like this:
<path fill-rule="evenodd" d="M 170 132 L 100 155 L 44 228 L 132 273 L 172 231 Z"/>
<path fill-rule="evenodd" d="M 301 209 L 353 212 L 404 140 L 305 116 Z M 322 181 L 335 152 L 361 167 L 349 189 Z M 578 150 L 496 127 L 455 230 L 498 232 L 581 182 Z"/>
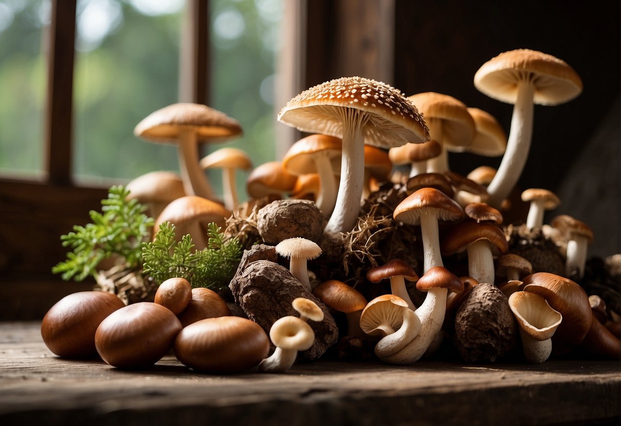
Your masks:
<path fill-rule="evenodd" d="M 489 97 L 514 104 L 517 83 L 525 80 L 535 87 L 535 104 L 562 104 L 582 92 L 582 81 L 571 66 L 529 49 L 503 52 L 484 63 L 474 75 L 474 86 Z"/>

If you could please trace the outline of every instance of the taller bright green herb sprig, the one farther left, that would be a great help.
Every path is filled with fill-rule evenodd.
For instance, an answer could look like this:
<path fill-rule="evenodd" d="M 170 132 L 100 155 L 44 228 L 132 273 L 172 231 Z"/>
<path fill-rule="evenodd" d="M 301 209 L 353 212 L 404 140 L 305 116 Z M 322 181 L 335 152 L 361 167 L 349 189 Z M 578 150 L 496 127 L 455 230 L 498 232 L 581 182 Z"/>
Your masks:
<path fill-rule="evenodd" d="M 107 199 L 101 201 L 102 213 L 91 211 L 93 223 L 75 225 L 73 232 L 60 237 L 63 247 L 71 247 L 67 260 L 52 268 L 63 279 L 82 281 L 95 273 L 102 260 L 112 255 L 124 258 L 128 268 L 140 267 L 142 242 L 149 235 L 153 219 L 144 214 L 147 207 L 137 200 L 127 200 L 129 190 L 112 186 Z"/>

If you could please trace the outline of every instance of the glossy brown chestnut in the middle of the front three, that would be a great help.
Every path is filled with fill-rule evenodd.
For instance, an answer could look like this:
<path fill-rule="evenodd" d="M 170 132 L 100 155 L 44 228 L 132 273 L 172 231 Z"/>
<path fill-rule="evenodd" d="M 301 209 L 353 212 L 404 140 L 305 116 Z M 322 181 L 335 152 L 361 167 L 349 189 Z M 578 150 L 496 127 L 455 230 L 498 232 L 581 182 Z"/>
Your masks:
<path fill-rule="evenodd" d="M 153 302 L 138 302 L 107 317 L 95 333 L 102 360 L 118 368 L 144 368 L 155 364 L 173 347 L 181 322 L 169 309 Z"/>

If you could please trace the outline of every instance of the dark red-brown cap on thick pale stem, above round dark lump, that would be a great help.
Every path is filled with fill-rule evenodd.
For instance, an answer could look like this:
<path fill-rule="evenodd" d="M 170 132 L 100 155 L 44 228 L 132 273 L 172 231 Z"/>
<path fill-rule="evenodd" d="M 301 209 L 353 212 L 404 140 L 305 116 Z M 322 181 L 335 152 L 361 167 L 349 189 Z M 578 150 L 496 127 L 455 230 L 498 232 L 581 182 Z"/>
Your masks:
<path fill-rule="evenodd" d="M 442 254 L 452 255 L 466 249 L 479 240 L 487 240 L 494 244 L 501 253 L 507 253 L 509 243 L 502 229 L 488 222 L 477 223 L 466 220 L 455 225 L 442 242 Z"/>

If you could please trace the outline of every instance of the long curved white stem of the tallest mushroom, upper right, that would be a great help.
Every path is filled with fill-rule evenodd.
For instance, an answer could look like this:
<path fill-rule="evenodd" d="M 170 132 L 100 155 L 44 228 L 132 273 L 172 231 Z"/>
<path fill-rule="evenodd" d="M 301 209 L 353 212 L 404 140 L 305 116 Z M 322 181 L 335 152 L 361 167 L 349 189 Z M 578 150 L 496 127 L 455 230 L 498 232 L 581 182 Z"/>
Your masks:
<path fill-rule="evenodd" d="M 494 179 L 487 186 L 489 194 L 487 204 L 496 209 L 500 208 L 502 200 L 509 197 L 528 159 L 533 135 L 533 93 L 534 88 L 530 80 L 520 81 L 511 117 L 507 149 Z"/>

